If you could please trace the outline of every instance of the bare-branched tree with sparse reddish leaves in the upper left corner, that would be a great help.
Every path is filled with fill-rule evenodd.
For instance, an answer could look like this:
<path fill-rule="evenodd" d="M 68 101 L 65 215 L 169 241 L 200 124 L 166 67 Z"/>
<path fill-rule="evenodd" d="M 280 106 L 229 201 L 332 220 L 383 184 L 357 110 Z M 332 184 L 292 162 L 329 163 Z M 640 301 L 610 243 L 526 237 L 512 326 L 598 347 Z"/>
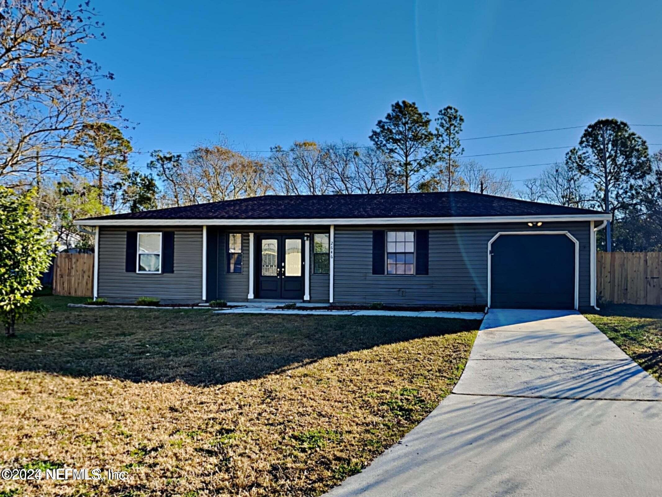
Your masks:
<path fill-rule="evenodd" d="M 121 121 L 95 82 L 113 79 L 81 46 L 103 38 L 89 1 L 0 0 L 0 180 L 21 185 L 56 172 L 85 123 Z"/>

